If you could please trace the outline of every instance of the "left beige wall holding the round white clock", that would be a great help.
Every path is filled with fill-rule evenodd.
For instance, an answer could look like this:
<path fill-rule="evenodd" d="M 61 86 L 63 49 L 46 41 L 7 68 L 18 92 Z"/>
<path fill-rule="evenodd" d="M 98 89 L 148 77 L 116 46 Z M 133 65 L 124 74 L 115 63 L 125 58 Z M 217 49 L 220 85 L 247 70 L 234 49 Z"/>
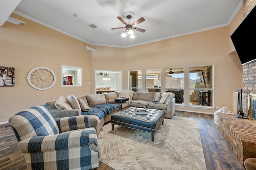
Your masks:
<path fill-rule="evenodd" d="M 60 95 L 90 93 L 92 52 L 84 47 L 88 44 L 21 16 L 11 16 L 26 24 L 5 22 L 0 27 L 0 65 L 15 68 L 14 87 L 0 87 L 0 122 L 8 121 L 10 116 L 28 107 L 58 99 Z M 82 87 L 61 87 L 62 64 L 82 67 Z M 48 67 L 57 77 L 55 85 L 48 90 L 36 90 L 28 84 L 28 72 L 39 66 Z"/>

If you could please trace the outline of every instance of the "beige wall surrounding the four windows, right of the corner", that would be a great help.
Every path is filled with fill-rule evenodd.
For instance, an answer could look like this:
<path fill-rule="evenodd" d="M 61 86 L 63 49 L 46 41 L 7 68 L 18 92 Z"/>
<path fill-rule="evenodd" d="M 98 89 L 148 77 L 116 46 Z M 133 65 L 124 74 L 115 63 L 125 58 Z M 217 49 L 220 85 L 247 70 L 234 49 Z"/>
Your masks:
<path fill-rule="evenodd" d="M 179 110 L 214 113 L 216 110 L 189 108 L 188 68 L 214 65 L 214 107 L 231 107 L 230 92 L 242 88 L 242 65 L 228 51 L 228 26 L 125 49 L 126 70 L 184 67 L 184 104 Z M 238 67 L 239 66 L 239 67 Z M 164 85 L 164 79 L 161 82 Z M 142 87 L 145 87 L 142 81 Z M 127 89 L 126 87 L 124 87 Z M 164 91 L 164 87 L 162 87 Z"/>

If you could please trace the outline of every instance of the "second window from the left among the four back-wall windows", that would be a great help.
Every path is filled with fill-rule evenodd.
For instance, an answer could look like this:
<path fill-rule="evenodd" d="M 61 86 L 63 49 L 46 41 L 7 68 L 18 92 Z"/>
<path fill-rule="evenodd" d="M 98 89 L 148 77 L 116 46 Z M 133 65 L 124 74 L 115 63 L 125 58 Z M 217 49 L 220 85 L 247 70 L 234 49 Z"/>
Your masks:
<path fill-rule="evenodd" d="M 148 92 L 161 91 L 161 69 L 145 70 L 146 90 Z"/>

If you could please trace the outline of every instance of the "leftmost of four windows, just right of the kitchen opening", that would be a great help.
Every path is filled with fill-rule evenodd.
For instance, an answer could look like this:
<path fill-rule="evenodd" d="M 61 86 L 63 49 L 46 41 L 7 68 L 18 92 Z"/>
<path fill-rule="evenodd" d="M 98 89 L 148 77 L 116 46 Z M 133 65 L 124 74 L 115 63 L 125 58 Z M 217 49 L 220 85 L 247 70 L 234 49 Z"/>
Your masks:
<path fill-rule="evenodd" d="M 132 91 L 142 91 L 142 81 L 141 81 L 142 71 L 129 71 L 129 90 Z"/>

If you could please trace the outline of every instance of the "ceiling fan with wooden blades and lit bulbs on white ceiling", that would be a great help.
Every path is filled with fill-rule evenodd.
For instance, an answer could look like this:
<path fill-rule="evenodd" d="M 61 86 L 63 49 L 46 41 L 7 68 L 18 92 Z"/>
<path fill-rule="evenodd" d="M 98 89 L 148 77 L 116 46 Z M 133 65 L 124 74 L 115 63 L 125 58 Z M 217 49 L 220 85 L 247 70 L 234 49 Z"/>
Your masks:
<path fill-rule="evenodd" d="M 139 31 L 139 32 L 145 32 L 146 30 L 138 28 L 138 27 L 134 27 L 140 23 L 142 23 L 143 21 L 145 21 L 145 19 L 143 17 L 139 18 L 138 20 L 134 21 L 132 24 L 130 24 L 130 19 L 134 18 L 134 12 L 124 12 L 123 17 L 128 19 L 128 24 L 127 22 L 120 16 L 117 16 L 116 18 L 118 18 L 118 20 L 120 20 L 125 27 L 118 27 L 118 28 L 111 28 L 111 30 L 116 30 L 116 29 L 122 29 L 125 28 L 126 32 L 128 34 L 133 34 L 132 29 Z M 125 31 L 124 31 L 125 32 Z"/>

